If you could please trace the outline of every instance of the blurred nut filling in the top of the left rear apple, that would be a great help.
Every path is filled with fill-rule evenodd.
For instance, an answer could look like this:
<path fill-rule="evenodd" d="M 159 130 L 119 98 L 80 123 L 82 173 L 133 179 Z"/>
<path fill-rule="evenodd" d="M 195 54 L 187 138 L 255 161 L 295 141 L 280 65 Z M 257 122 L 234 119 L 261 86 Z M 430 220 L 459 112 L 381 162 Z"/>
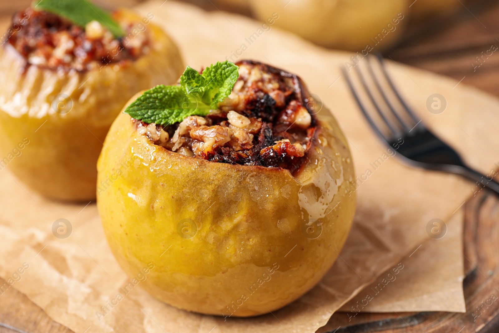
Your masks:
<path fill-rule="evenodd" d="M 147 53 L 149 31 L 141 23 L 137 26 L 143 29 L 139 31 L 132 22 L 122 23 L 125 36 L 115 38 L 98 21 L 81 28 L 54 13 L 29 7 L 13 16 L 5 35 L 28 65 L 81 72 L 109 63 L 124 65 Z"/>

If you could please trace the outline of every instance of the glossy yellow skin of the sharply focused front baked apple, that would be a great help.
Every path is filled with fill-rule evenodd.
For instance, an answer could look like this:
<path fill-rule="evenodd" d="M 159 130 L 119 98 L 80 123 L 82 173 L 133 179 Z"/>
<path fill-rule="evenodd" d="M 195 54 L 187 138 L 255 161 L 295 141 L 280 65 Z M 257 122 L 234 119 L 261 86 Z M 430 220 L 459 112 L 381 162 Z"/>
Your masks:
<path fill-rule="evenodd" d="M 118 263 L 179 309 L 249 317 L 310 290 L 336 260 L 355 211 L 354 169 L 327 110 L 299 174 L 166 150 L 120 114 L 98 161 L 97 206 Z"/>

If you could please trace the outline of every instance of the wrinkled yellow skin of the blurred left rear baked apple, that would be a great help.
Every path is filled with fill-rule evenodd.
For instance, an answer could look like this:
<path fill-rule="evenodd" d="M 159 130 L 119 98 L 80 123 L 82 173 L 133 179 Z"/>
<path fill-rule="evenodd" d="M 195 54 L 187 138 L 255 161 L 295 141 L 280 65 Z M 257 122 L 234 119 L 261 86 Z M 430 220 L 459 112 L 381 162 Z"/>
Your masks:
<path fill-rule="evenodd" d="M 37 66 L 23 73 L 20 55 L 0 47 L 0 169 L 8 165 L 46 197 L 94 200 L 102 142 L 123 105 L 140 90 L 176 82 L 184 69 L 177 46 L 151 20 L 144 24 L 128 9 L 114 17 L 142 22 L 151 34 L 149 53 L 128 65 L 110 63 L 83 73 Z M 9 159 L 23 140 L 29 143 Z"/>

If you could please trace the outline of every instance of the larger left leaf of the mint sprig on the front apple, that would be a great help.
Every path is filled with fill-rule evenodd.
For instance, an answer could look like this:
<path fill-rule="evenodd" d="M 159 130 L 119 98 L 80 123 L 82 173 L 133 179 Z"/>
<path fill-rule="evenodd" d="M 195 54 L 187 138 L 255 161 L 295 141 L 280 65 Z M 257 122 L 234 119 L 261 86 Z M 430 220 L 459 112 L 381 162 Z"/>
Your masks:
<path fill-rule="evenodd" d="M 140 95 L 125 113 L 148 124 L 171 125 L 187 116 L 206 116 L 210 109 L 210 105 L 186 94 L 182 86 L 158 85 Z"/>

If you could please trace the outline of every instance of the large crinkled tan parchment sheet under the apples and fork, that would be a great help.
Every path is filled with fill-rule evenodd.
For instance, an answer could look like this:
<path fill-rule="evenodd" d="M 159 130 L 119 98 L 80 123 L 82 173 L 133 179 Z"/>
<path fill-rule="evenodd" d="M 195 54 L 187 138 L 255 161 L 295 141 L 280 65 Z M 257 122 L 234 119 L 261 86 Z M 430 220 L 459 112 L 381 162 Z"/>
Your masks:
<path fill-rule="evenodd" d="M 151 1 L 139 9 L 143 14 L 154 13 L 154 21 L 179 43 L 186 63 L 195 68 L 222 60 L 243 43 L 249 44 L 245 38 L 262 27 L 248 18 L 206 13 L 171 0 Z M 386 147 L 371 132 L 340 77 L 339 66 L 350 54 L 323 50 L 276 28 L 262 31 L 244 57 L 300 75 L 337 117 L 350 141 L 358 175 L 374 169 L 370 163 L 385 156 Z M 427 126 L 457 147 L 472 166 L 489 173 L 499 153 L 499 140 L 490 139 L 497 133 L 498 100 L 408 66 L 392 64 L 389 72 Z M 435 92 L 448 102 L 447 110 L 438 115 L 426 109 L 428 97 Z M 393 157 L 383 159 L 371 171 L 357 189 L 354 227 L 341 257 L 314 289 L 273 314 L 224 321 L 176 310 L 135 288 L 99 321 L 96 312 L 115 299 L 130 279 L 108 250 L 94 204 L 83 208 L 46 201 L 27 191 L 7 170 L 0 171 L 0 276 L 9 279 L 23 263 L 29 265 L 12 287 L 77 333 L 311 333 L 428 239 L 430 220 L 448 220 L 472 194 L 472 184 L 460 177 L 411 169 Z M 59 218 L 72 224 L 67 239 L 52 234 Z"/>

